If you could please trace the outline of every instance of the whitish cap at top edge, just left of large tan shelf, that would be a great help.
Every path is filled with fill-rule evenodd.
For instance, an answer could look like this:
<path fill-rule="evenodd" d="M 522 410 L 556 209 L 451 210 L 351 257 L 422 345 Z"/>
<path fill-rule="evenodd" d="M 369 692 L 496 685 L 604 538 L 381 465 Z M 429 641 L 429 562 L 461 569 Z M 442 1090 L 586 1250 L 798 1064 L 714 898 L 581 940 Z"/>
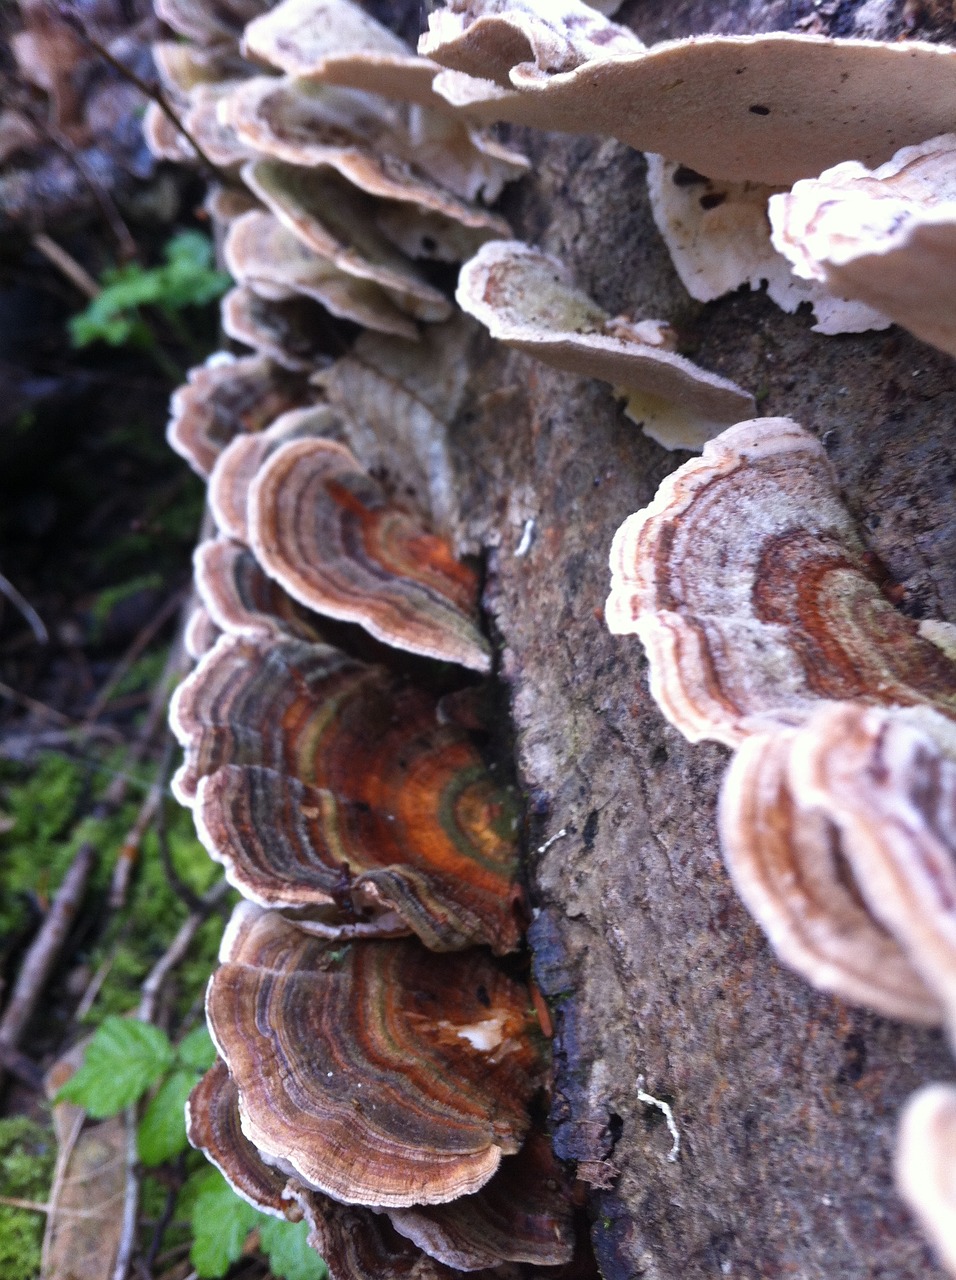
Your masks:
<path fill-rule="evenodd" d="M 248 24 L 243 49 L 288 76 L 435 104 L 435 64 L 349 0 L 283 0 Z"/>

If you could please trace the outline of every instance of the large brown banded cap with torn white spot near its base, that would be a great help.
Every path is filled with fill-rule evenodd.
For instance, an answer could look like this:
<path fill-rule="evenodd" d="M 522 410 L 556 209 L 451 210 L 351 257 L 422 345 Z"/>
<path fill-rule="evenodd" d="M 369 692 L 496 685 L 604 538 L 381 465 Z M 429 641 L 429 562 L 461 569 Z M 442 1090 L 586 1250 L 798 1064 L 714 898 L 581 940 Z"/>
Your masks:
<path fill-rule="evenodd" d="M 346 1203 L 444 1203 L 518 1149 L 541 1080 L 529 993 L 479 951 L 344 948 L 237 908 L 206 1012 L 246 1135 Z M 360 1088 L 361 1087 L 361 1088 Z"/>

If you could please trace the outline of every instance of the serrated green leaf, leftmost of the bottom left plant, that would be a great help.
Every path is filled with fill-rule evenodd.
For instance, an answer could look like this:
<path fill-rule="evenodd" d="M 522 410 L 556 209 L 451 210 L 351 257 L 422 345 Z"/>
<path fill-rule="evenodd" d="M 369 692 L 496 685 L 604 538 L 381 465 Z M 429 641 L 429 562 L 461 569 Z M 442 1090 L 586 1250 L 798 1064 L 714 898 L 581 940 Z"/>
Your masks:
<path fill-rule="evenodd" d="M 173 1046 L 159 1027 L 134 1018 L 104 1019 L 87 1046 L 83 1065 L 56 1101 L 76 1102 L 91 1116 L 115 1115 L 143 1096 L 173 1065 Z"/>

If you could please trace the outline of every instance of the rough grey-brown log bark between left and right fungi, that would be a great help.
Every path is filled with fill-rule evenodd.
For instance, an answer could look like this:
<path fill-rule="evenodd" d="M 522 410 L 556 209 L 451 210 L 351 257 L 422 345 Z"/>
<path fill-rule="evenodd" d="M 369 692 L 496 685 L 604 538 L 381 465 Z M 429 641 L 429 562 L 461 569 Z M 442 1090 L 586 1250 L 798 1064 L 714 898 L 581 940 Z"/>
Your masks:
<path fill-rule="evenodd" d="M 622 15 L 649 42 L 801 19 L 840 35 L 904 29 L 904 6 L 878 0 L 644 0 Z M 692 303 L 654 229 L 640 154 L 522 141 L 535 175 L 509 197 L 517 234 L 564 259 L 612 312 L 672 320 L 689 353 L 753 389 L 763 413 L 817 431 L 902 607 L 956 621 L 952 360 L 898 329 L 820 337 L 760 293 Z M 456 425 L 465 509 L 472 545 L 493 548 L 486 607 L 543 846 L 532 943 L 555 1012 L 557 1147 L 605 1175 L 593 1198 L 604 1276 L 938 1276 L 891 1156 L 902 1100 L 953 1075 L 942 1037 L 818 995 L 774 961 L 719 858 L 727 753 L 664 722 L 640 643 L 601 618 L 614 529 L 686 456 L 645 439 L 601 384 L 480 337 L 474 357 Z M 531 548 L 516 556 L 530 518 Z M 673 1106 L 676 1162 L 639 1076 Z"/>

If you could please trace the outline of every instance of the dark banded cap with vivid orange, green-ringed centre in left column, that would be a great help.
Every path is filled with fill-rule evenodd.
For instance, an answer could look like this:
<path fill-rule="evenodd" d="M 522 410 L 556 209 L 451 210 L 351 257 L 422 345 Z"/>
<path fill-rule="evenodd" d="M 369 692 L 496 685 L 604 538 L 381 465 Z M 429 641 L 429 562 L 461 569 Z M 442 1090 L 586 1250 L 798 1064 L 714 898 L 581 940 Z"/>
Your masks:
<path fill-rule="evenodd" d="M 174 727 L 177 792 L 196 794 L 200 837 L 246 897 L 326 936 L 517 946 L 513 804 L 430 695 L 260 635 L 220 641 Z"/>

